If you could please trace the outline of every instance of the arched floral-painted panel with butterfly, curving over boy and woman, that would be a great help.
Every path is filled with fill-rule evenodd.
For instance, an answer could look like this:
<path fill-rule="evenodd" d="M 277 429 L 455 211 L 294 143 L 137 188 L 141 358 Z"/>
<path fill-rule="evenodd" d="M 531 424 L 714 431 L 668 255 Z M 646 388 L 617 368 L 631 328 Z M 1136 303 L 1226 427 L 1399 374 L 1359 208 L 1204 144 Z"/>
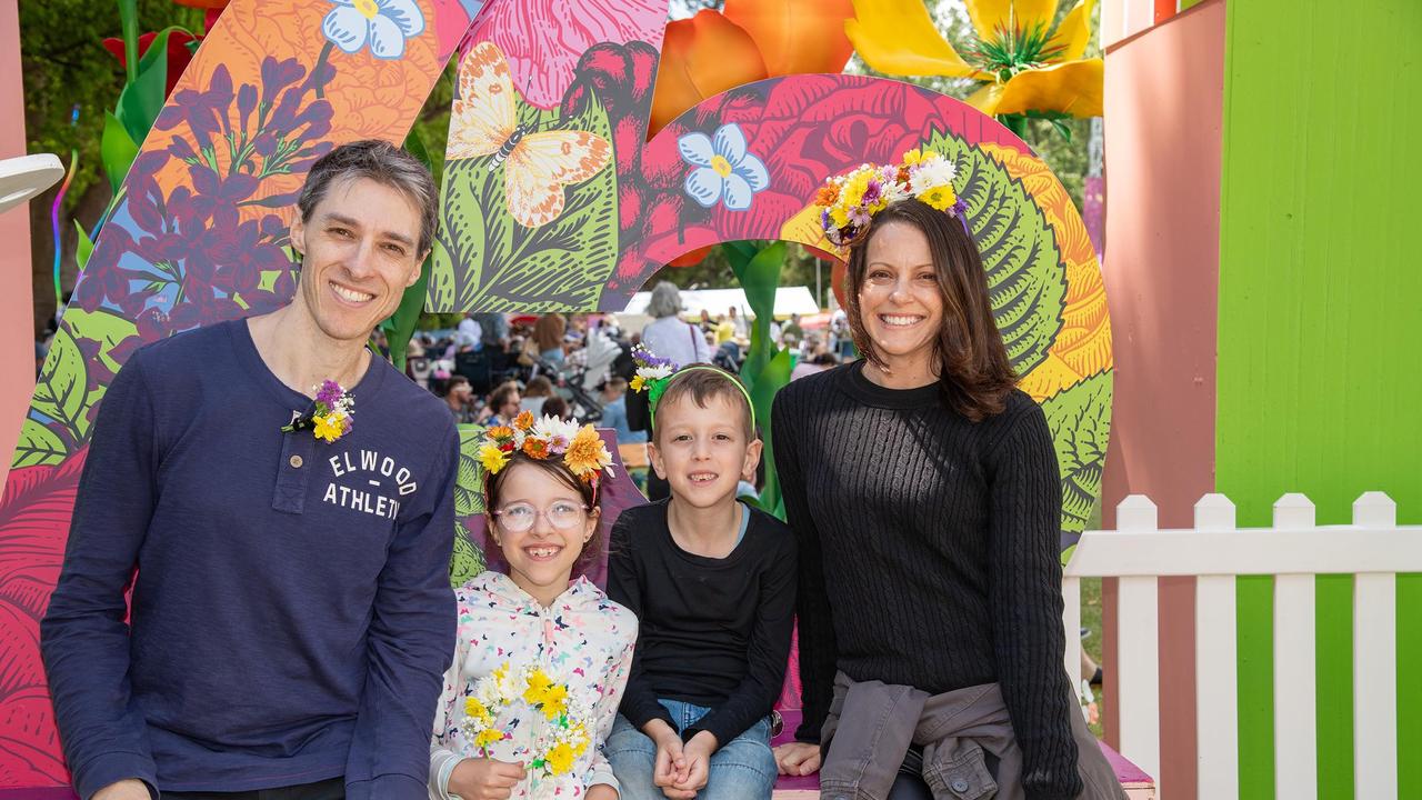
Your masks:
<path fill-rule="evenodd" d="M 939 151 L 958 167 L 956 189 L 968 204 L 1012 366 L 1057 437 L 1062 530 L 1081 532 L 1101 491 L 1109 433 L 1111 327 L 1091 238 L 1051 171 L 963 102 L 855 75 L 739 87 L 646 145 L 616 137 L 616 172 L 594 169 L 604 131 L 646 125 L 648 81 L 637 46 L 596 51 L 560 110 L 520 105 L 518 121 L 503 102 L 498 48 L 478 44 L 465 57 L 455 102 L 474 110 L 451 115 L 431 306 L 620 310 L 657 268 L 705 245 L 786 239 L 830 249 L 811 204 L 826 177 L 896 161 L 914 147 Z M 546 158 L 540 184 L 545 198 L 566 204 L 560 215 L 535 219 L 518 188 L 529 167 L 512 164 L 510 154 L 529 147 L 525 131 L 539 131 L 528 137 L 543 137 L 542 147 L 562 147 Z"/>

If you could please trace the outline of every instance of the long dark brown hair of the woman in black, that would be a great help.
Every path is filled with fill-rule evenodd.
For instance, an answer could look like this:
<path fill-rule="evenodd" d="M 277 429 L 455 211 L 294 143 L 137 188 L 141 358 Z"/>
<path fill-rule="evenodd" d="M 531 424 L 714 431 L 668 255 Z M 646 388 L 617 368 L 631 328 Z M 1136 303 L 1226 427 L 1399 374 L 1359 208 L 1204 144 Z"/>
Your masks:
<path fill-rule="evenodd" d="M 947 212 L 912 198 L 899 201 L 876 214 L 865 238 L 850 248 L 845 312 L 855 346 L 870 363 L 887 369 L 865 330 L 859 290 L 869 272 L 869 242 L 889 223 L 913 225 L 929 239 L 943 299 L 943 326 L 933 347 L 943 403 L 973 421 L 1001 413 L 1017 376 L 993 320 L 983 256 L 963 222 Z"/>

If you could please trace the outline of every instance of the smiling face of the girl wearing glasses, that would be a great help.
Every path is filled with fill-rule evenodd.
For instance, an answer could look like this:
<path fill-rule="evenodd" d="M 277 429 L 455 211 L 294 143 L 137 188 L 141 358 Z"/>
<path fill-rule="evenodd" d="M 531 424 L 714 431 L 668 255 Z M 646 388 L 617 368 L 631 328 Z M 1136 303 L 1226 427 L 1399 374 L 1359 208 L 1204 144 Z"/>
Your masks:
<path fill-rule="evenodd" d="M 597 531 L 597 510 L 583 493 L 552 474 L 562 467 L 518 460 L 498 478 L 493 540 L 509 578 L 543 605 L 563 594 L 583 547 Z"/>

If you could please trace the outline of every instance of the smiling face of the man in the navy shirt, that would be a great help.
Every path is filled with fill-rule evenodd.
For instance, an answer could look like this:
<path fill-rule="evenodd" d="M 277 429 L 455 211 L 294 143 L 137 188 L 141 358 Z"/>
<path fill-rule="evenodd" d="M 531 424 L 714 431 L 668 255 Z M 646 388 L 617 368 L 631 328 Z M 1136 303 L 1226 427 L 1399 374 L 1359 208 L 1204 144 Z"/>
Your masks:
<path fill-rule="evenodd" d="M 292 223 L 301 253 L 297 298 L 337 342 L 364 342 L 419 279 L 419 206 L 370 178 L 334 184 L 306 219 Z"/>

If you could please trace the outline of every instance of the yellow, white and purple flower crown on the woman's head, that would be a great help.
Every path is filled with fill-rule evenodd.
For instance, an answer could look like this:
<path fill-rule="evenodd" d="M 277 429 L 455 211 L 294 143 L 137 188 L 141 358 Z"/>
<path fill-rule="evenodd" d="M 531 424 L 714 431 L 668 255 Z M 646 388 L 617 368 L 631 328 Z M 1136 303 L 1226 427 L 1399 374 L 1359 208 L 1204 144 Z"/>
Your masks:
<path fill-rule="evenodd" d="M 825 238 L 838 248 L 849 248 L 865 236 L 876 214 L 909 198 L 961 219 L 967 204 L 953 191 L 957 174 L 947 158 L 913 148 L 903 154 L 902 164 L 860 164 L 852 172 L 826 178 L 815 195 Z"/>

